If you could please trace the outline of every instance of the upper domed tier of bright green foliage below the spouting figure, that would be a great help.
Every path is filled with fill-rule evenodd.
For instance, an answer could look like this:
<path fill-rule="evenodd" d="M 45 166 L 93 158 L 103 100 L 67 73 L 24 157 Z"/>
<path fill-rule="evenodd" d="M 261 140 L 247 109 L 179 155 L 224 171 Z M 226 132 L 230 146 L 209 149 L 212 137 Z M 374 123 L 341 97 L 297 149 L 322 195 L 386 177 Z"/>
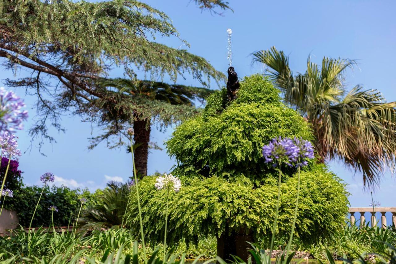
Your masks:
<path fill-rule="evenodd" d="M 208 165 L 211 175 L 246 176 L 258 184 L 274 173 L 261 161 L 263 145 L 278 136 L 312 139 L 308 123 L 280 102 L 278 92 L 253 75 L 241 83 L 231 103 L 226 103 L 225 89 L 209 96 L 203 115 L 181 124 L 167 142 L 179 165 L 175 174 L 200 174 Z"/>

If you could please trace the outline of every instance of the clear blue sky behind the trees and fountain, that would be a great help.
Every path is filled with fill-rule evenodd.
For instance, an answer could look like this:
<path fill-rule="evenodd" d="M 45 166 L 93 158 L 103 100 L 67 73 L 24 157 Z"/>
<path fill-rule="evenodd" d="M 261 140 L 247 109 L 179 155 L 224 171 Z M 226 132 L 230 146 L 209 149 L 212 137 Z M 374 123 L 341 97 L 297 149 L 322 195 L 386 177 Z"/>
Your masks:
<path fill-rule="evenodd" d="M 229 0 L 234 13 L 227 10 L 223 16 L 200 12 L 194 1 L 189 0 L 147 0 L 147 4 L 164 11 L 172 19 L 181 38 L 186 39 L 189 52 L 208 59 L 218 69 L 226 71 L 227 32 L 232 33 L 232 64 L 239 77 L 262 73 L 263 66 L 251 65 L 251 53 L 276 46 L 290 56 L 291 69 L 304 72 L 307 57 L 320 63 L 323 56 L 358 59 L 359 67 L 349 71 L 348 87 L 362 84 L 366 89 L 380 90 L 388 101 L 396 101 L 394 93 L 396 75 L 396 2 L 394 1 L 236 1 Z M 157 42 L 179 47 L 177 38 L 158 38 Z M 186 48 L 184 46 L 184 48 Z M 5 78 L 18 78 L 25 71 L 2 69 L 0 82 Z M 121 76 L 113 69 L 111 77 Z M 139 77 L 144 78 L 143 73 Z M 165 78 L 165 80 L 168 80 Z M 179 78 L 181 84 L 198 85 L 187 76 Z M 1 83 L 0 83 L 1 84 Z M 2 84 L 4 86 L 4 84 Z M 212 88 L 215 89 L 214 82 Z M 25 98 L 30 118 L 26 127 L 37 119 L 34 117 L 35 98 L 25 96 L 23 89 L 16 90 Z M 88 187 L 93 190 L 103 187 L 107 180 L 126 181 L 131 175 L 131 158 L 125 149 L 108 149 L 102 143 L 88 150 L 88 138 L 97 135 L 98 129 L 82 122 L 80 117 L 65 113 L 63 125 L 65 134 L 55 134 L 57 143 L 46 143 L 43 147 L 46 157 L 40 155 L 37 145 L 32 143 L 20 159 L 24 181 L 38 184 L 40 175 L 46 171 L 57 176 L 57 184 L 70 187 Z M 169 138 L 172 128 L 165 133 L 152 129 L 152 141 L 162 145 Z M 17 133 L 21 150 L 30 146 L 27 131 Z M 152 150 L 148 159 L 148 172 L 168 172 L 174 161 L 166 151 Z M 371 201 L 369 191 L 362 189 L 362 175 L 345 168 L 342 163 L 331 161 L 331 169 L 350 184 L 350 203 L 353 207 L 366 207 Z M 394 190 L 395 177 L 386 173 L 379 188 L 374 190 L 374 199 L 382 206 L 396 206 Z"/>

